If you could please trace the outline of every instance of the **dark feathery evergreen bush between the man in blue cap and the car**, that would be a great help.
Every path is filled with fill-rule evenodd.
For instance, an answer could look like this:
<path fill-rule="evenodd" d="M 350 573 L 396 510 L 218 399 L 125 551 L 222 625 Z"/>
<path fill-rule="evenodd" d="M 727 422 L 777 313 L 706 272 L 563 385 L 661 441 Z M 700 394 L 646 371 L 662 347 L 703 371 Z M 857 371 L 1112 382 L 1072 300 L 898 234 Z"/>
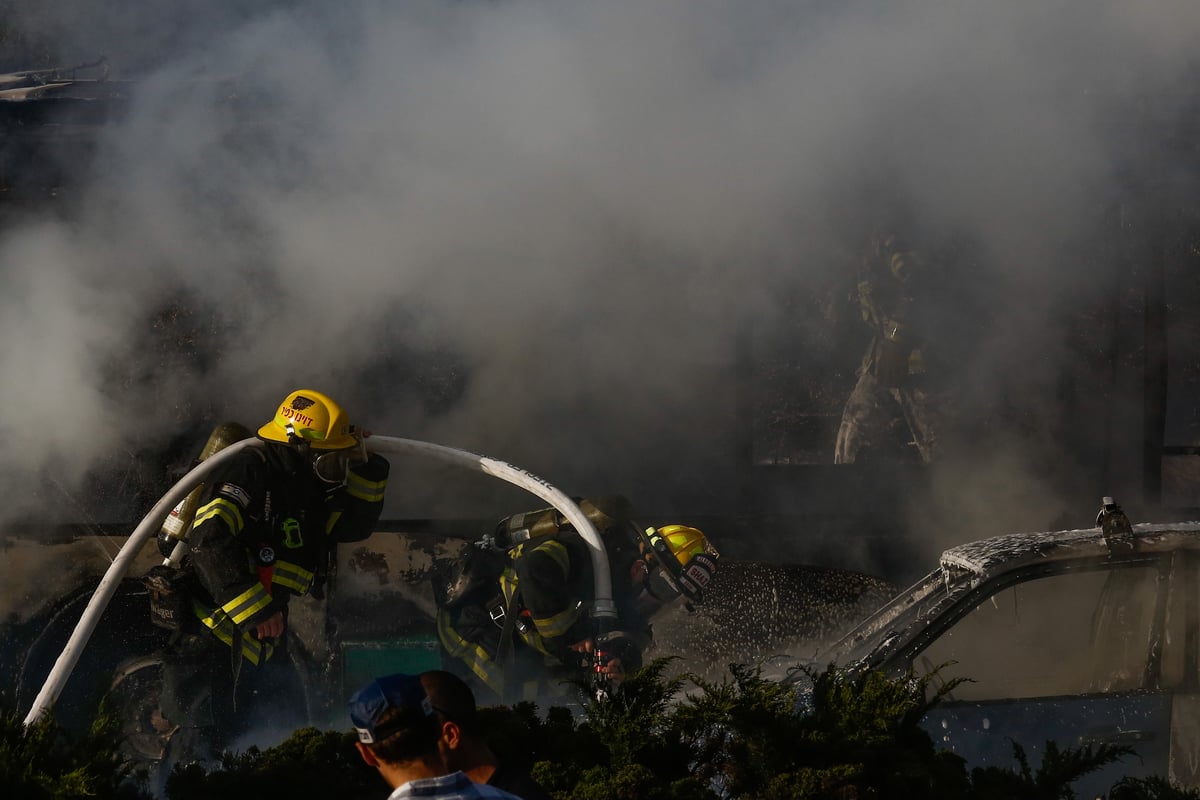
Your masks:
<path fill-rule="evenodd" d="M 901 680 L 800 669 L 804 685 L 738 664 L 722 682 L 667 678 L 667 666 L 652 662 L 611 699 L 589 703 L 577 720 L 559 720 L 554 757 L 534 754 L 539 782 L 562 800 L 1070 798 L 1075 780 L 1132 752 L 1061 751 L 1051 742 L 1034 771 L 1014 744 L 1016 769 L 968 774 L 961 757 L 937 750 L 920 727 L 962 682 L 942 681 L 938 669 Z M 694 691 L 684 691 L 689 684 Z M 598 742 L 607 753 L 600 763 Z M 581 751 L 586 756 L 576 759 Z"/>

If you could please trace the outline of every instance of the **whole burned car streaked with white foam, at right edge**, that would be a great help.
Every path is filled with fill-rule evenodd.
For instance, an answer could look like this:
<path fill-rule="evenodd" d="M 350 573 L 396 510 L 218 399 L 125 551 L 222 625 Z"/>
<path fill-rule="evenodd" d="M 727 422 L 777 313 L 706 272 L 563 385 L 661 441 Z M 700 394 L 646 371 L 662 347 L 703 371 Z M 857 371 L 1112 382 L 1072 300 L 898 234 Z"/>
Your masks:
<path fill-rule="evenodd" d="M 1080 796 L 1122 776 L 1198 787 L 1200 522 L 1115 519 L 953 547 L 823 662 L 967 679 L 923 726 L 968 768 L 1014 766 L 1013 742 L 1034 764 L 1048 741 L 1110 744 L 1136 757 L 1078 781 Z"/>

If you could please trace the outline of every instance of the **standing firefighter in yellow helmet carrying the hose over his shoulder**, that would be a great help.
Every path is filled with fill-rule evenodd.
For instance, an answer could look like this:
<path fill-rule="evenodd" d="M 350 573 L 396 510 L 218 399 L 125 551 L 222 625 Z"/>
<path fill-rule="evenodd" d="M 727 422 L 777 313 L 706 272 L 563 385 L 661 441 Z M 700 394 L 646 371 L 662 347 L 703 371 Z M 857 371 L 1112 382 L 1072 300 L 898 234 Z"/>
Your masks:
<path fill-rule="evenodd" d="M 211 758 L 251 724 L 304 723 L 288 599 L 319 588 L 334 545 L 366 539 L 379 519 L 389 464 L 366 452 L 366 435 L 328 396 L 294 391 L 258 429 L 265 447 L 205 481 L 176 581 L 190 613 L 163 666 L 176 758 Z"/>

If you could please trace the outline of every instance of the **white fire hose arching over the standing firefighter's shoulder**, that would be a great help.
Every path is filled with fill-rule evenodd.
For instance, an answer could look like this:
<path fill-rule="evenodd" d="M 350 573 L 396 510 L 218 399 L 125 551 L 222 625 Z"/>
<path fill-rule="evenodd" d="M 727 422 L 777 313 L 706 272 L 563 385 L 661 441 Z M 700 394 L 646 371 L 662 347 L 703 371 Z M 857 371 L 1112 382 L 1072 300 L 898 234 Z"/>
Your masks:
<path fill-rule="evenodd" d="M 600 534 L 596 531 L 595 525 L 592 524 L 592 521 L 587 518 L 578 505 L 568 495 L 533 473 L 494 458 L 467 452 L 466 450 L 444 447 L 428 441 L 380 435 L 368 437 L 366 445 L 371 452 L 431 456 L 438 461 L 466 467 L 518 486 L 554 506 L 575 527 L 575 530 L 580 533 L 592 554 L 593 572 L 595 575 L 595 604 L 592 609 L 593 615 L 605 620 L 617 616 L 616 606 L 612 602 L 612 576 L 608 572 L 608 554 L 604 548 L 604 542 L 600 540 Z M 88 607 L 76 624 L 71 638 L 67 640 L 66 646 L 62 648 L 62 652 L 59 654 L 58 661 L 54 662 L 54 667 L 50 669 L 49 675 L 47 675 L 42 690 L 34 699 L 34 705 L 25 716 L 26 727 L 46 716 L 54 705 L 54 702 L 58 700 L 64 685 L 71 676 L 72 670 L 74 670 L 76 664 L 79 663 L 83 649 L 100 624 L 101 614 L 104 613 L 109 601 L 112 601 L 130 565 L 137 558 L 146 541 L 152 539 L 158 531 L 162 521 L 166 519 L 170 510 L 179 505 L 193 488 L 203 483 L 209 473 L 232 458 L 235 453 L 246 447 L 263 446 L 262 440 L 250 438 L 236 441 L 212 453 L 181 477 L 175 486 L 170 487 L 167 494 L 150 510 L 150 513 L 138 523 L 138 527 L 130 534 L 128 540 L 104 572 L 104 577 L 101 579 L 100 585 L 96 587 L 96 591 L 88 602 Z"/>

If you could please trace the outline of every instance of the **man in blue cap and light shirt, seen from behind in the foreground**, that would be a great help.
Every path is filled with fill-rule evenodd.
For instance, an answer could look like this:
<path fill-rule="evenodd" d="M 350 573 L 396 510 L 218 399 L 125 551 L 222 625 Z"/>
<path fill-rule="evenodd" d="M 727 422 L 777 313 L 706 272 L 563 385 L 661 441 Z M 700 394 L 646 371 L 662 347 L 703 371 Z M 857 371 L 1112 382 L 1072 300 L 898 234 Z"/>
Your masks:
<path fill-rule="evenodd" d="M 448 723 L 438 711 L 421 679 L 403 673 L 377 678 L 350 698 L 350 722 L 359 734 L 355 746 L 392 787 L 388 800 L 521 800 L 448 766 L 442 747 Z"/>

